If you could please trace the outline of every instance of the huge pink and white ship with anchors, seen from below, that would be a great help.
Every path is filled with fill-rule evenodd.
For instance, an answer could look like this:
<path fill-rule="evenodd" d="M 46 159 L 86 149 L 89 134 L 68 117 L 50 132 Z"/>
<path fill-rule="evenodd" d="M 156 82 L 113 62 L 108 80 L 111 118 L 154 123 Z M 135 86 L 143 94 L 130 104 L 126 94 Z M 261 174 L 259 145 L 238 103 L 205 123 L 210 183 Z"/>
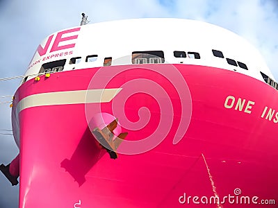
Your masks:
<path fill-rule="evenodd" d="M 202 21 L 86 18 L 15 92 L 0 169 L 20 208 L 277 206 L 278 84 L 254 46 Z"/>

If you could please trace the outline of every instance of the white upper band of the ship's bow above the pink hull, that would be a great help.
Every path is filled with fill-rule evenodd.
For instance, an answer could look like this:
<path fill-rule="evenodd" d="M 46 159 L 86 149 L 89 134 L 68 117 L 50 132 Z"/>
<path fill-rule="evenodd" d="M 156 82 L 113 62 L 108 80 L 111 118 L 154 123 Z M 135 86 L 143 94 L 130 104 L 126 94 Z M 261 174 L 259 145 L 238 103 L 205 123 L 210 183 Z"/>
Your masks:
<path fill-rule="evenodd" d="M 136 51 L 162 51 L 163 62 L 219 67 L 263 81 L 261 71 L 274 80 L 259 51 L 242 37 L 188 19 L 127 19 L 88 24 L 49 35 L 39 47 L 40 54 L 36 51 L 26 76 L 102 67 L 105 60 L 112 60 L 109 65 L 145 63 L 132 61 L 132 55 Z"/>

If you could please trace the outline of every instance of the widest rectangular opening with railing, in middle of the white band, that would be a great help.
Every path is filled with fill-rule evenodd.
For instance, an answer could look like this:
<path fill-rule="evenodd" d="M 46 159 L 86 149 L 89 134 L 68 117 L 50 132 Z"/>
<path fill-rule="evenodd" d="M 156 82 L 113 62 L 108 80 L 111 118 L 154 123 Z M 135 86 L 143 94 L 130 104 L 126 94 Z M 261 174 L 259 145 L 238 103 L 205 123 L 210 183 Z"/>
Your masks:
<path fill-rule="evenodd" d="M 133 51 L 133 64 L 158 64 L 164 63 L 163 51 Z"/>

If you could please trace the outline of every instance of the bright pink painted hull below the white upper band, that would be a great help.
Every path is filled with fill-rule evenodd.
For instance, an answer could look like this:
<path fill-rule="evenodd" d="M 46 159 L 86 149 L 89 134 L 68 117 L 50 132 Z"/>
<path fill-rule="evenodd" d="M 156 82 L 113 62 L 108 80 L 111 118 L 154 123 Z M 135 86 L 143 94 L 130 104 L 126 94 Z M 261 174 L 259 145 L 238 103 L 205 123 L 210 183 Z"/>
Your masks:
<path fill-rule="evenodd" d="M 258 204 L 261 200 L 278 202 L 276 111 L 271 120 L 262 117 L 265 106 L 278 110 L 277 90 L 233 71 L 175 65 L 190 90 L 192 115 L 185 135 L 173 144 L 187 111 L 182 114 L 183 101 L 179 101 L 175 87 L 144 67 L 121 73 L 106 88 L 124 90 L 124 83 L 140 78 L 163 86 L 173 106 L 173 120 L 161 144 L 145 153 L 119 154 L 118 159 L 111 159 L 92 136 L 88 114 L 86 119 L 85 109 L 90 109 L 90 115 L 97 114 L 99 103 L 26 108 L 19 113 L 19 207 L 195 207 L 194 196 L 222 199 L 237 196 L 235 189 L 241 190 L 238 196 L 258 196 Z M 163 67 L 167 69 L 167 64 Z M 14 106 L 33 94 L 88 89 L 97 69 L 53 73 L 39 82 L 29 80 L 17 90 Z M 107 67 L 106 76 L 115 69 L 117 66 Z M 120 98 L 122 92 L 115 98 Z M 231 106 L 228 96 L 236 101 L 245 99 L 243 110 L 235 109 L 236 104 Z M 246 108 L 247 101 L 254 102 L 252 107 Z M 122 132 L 129 133 L 126 140 L 133 141 L 156 130 L 161 119 L 160 103 L 138 93 L 122 105 L 101 103 L 101 112 L 114 115 L 114 109 L 122 108 L 125 116 L 136 122 L 140 107 L 149 109 L 149 123 L 139 130 L 122 127 Z M 117 118 L 120 124 L 125 119 Z M 181 196 L 185 194 L 192 198 L 183 204 Z M 204 206 L 200 199 L 199 203 Z M 253 206 L 227 201 L 206 205 Z"/>

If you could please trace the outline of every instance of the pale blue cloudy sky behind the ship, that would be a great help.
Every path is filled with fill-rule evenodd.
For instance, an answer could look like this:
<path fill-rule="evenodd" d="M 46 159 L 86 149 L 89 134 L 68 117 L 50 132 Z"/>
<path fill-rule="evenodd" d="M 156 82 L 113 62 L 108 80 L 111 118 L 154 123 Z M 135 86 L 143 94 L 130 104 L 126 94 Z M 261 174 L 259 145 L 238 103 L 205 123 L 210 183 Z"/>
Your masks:
<path fill-rule="evenodd" d="M 24 74 L 33 53 L 50 33 L 78 26 L 81 13 L 90 24 L 115 19 L 176 17 L 216 24 L 256 46 L 278 80 L 277 0 L 0 0 L 0 78 Z M 19 80 L 0 82 L 0 97 L 14 94 Z M 0 103 L 10 98 L 0 98 Z M 9 104 L 0 104 L 0 129 L 11 130 Z M 0 130 L 0 164 L 18 153 L 10 135 Z M 18 207 L 19 186 L 0 174 L 0 207 Z"/>

